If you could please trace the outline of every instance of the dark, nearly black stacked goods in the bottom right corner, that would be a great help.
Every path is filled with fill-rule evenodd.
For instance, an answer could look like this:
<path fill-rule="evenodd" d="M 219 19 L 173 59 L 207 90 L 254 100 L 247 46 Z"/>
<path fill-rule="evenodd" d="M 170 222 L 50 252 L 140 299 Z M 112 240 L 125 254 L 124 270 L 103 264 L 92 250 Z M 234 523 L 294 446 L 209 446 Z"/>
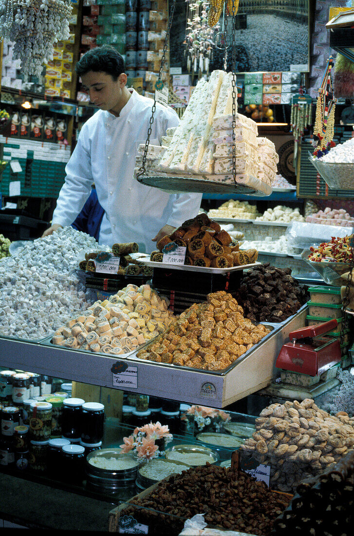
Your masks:
<path fill-rule="evenodd" d="M 353 520 L 354 452 L 348 452 L 338 463 L 317 477 L 300 482 L 289 508 L 274 522 L 276 534 L 303 531 L 328 536 L 347 536 Z"/>

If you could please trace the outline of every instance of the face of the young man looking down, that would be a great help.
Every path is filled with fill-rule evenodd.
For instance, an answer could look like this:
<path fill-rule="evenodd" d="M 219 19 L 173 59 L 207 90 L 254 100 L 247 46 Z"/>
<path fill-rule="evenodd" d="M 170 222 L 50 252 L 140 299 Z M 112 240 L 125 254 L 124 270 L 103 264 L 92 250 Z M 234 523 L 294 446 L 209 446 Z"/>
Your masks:
<path fill-rule="evenodd" d="M 120 108 L 122 90 L 126 84 L 126 75 L 122 73 L 116 81 L 106 72 L 88 71 L 81 76 L 82 86 L 87 90 L 91 102 L 101 110 Z"/>

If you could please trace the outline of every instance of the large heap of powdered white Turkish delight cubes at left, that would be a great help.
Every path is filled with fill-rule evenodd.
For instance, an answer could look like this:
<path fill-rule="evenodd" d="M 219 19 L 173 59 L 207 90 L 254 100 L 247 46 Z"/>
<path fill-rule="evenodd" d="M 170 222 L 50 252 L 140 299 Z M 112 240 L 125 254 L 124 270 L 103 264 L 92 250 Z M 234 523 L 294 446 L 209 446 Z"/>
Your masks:
<path fill-rule="evenodd" d="M 92 303 L 76 276 L 82 249 L 96 241 L 73 227 L 29 241 L 0 263 L 0 334 L 40 339 Z"/>

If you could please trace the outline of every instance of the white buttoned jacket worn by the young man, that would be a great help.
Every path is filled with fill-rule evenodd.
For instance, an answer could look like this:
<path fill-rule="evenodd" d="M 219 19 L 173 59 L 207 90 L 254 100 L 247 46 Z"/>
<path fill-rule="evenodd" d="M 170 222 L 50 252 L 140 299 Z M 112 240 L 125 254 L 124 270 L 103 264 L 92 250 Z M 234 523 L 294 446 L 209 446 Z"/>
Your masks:
<path fill-rule="evenodd" d="M 140 251 L 151 252 L 156 248 L 152 239 L 164 225 L 178 227 L 197 215 L 201 194 L 169 194 L 133 177 L 138 146 L 146 142 L 152 100 L 130 91 L 119 117 L 99 110 L 82 126 L 65 167 L 52 224 L 71 225 L 94 182 L 105 211 L 100 243 L 138 242 Z M 167 128 L 178 122 L 174 110 L 156 103 L 150 144 L 160 145 Z"/>

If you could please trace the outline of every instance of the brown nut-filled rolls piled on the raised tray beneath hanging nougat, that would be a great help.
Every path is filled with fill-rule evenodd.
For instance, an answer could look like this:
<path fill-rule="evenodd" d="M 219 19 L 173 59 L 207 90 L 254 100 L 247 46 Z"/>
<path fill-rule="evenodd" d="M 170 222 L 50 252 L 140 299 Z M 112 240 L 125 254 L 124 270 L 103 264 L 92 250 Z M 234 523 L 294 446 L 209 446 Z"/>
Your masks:
<path fill-rule="evenodd" d="M 257 260 L 256 249 L 239 251 L 238 242 L 220 225 L 210 220 L 205 213 L 186 220 L 170 235 L 164 236 L 157 243 L 157 251 L 153 251 L 150 260 L 162 262 L 163 248 L 175 242 L 186 249 L 184 264 L 206 268 L 230 268 L 251 264 Z"/>

